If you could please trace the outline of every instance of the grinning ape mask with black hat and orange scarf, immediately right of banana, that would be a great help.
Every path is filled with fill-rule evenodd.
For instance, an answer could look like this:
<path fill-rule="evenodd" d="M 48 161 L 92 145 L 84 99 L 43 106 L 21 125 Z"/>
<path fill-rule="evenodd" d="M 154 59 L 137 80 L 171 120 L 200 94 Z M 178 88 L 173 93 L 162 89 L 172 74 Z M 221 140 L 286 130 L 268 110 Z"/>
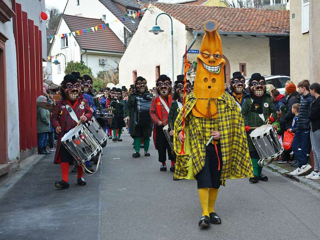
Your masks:
<path fill-rule="evenodd" d="M 244 91 L 245 78 L 242 76 L 241 72 L 234 72 L 232 76 L 233 78 L 230 79 L 230 95 L 233 96 L 241 109 L 244 97 L 248 95 L 248 93 Z"/>

